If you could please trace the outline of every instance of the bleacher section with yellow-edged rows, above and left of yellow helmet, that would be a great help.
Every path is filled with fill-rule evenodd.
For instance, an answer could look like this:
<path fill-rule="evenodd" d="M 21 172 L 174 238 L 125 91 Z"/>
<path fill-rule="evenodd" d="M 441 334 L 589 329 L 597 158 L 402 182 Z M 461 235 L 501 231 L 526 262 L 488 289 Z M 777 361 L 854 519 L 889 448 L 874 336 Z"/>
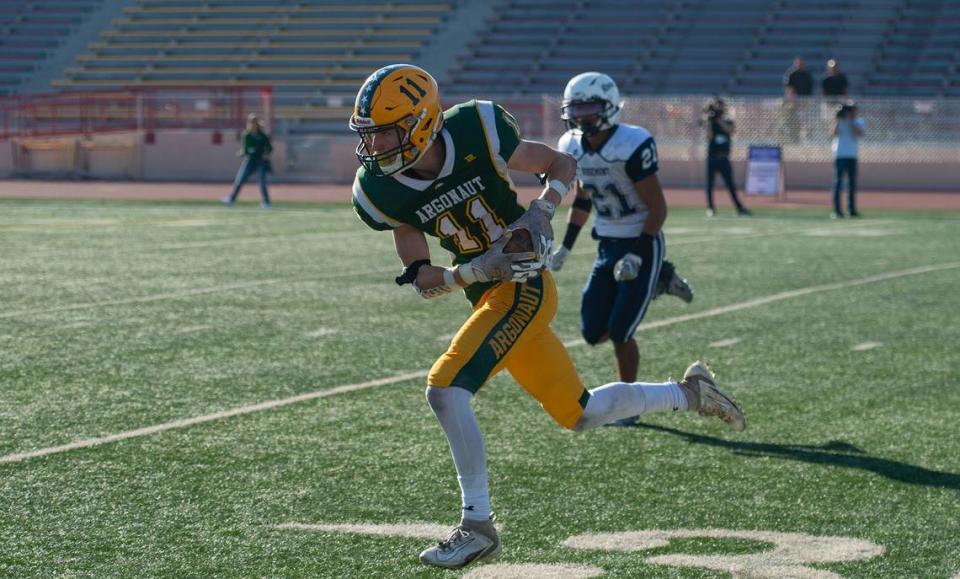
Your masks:
<path fill-rule="evenodd" d="M 141 0 L 54 86 L 349 91 L 385 62 L 414 59 L 449 10 L 369 0 Z"/>

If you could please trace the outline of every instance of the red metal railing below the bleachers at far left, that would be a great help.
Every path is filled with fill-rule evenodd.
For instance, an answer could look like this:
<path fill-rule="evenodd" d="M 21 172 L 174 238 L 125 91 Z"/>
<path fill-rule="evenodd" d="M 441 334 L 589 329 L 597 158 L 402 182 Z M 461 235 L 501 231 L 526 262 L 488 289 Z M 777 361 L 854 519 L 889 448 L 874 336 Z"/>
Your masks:
<path fill-rule="evenodd" d="M 249 113 L 269 126 L 270 87 L 190 86 L 0 98 L 0 140 L 160 129 L 241 131 Z"/>

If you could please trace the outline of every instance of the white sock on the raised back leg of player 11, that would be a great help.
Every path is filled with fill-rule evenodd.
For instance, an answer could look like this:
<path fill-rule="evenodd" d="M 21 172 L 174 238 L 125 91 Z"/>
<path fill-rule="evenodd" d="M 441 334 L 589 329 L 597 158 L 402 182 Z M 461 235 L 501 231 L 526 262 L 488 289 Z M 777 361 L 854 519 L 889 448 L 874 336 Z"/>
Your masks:
<path fill-rule="evenodd" d="M 687 398 L 675 382 L 613 382 L 590 391 L 590 400 L 574 430 L 589 430 L 648 412 L 686 409 Z"/>

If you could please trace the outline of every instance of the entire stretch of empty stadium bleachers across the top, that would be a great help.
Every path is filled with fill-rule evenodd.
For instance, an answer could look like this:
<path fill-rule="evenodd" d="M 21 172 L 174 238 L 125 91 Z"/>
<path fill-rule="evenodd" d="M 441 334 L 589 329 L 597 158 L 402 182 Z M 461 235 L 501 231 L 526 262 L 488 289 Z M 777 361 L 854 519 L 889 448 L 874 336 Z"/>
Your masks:
<path fill-rule="evenodd" d="M 342 130 L 372 70 L 419 63 L 428 46 L 451 55 L 432 72 L 458 97 L 557 95 L 589 69 L 628 95 L 779 96 L 797 55 L 818 81 L 838 59 L 855 96 L 960 96 L 957 2 L 497 0 L 475 32 L 451 35 L 477 1 L 9 0 L 0 94 L 110 4 L 122 16 L 90 21 L 100 37 L 69 55 L 54 89 L 270 86 L 275 116 L 300 133 Z"/>

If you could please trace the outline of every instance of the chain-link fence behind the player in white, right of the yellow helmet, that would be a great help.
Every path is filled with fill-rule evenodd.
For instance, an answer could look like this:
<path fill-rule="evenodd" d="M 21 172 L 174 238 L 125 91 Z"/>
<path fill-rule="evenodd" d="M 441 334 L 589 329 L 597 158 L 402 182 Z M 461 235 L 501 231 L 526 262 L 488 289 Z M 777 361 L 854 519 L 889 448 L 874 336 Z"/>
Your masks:
<path fill-rule="evenodd" d="M 840 102 L 820 98 L 725 99 L 736 121 L 734 158 L 746 155 L 748 144 L 781 145 L 788 158 L 832 159 L 833 122 Z M 661 157 L 702 160 L 706 146 L 702 109 L 707 97 L 637 97 L 625 99 L 621 121 L 646 127 L 660 146 Z M 524 117 L 528 132 L 555 142 L 564 127 L 560 98 L 543 97 L 539 106 L 501 101 Z M 520 106 L 513 106 L 513 105 Z M 960 100 L 860 99 L 866 130 L 861 160 L 889 163 L 960 162 Z"/>

